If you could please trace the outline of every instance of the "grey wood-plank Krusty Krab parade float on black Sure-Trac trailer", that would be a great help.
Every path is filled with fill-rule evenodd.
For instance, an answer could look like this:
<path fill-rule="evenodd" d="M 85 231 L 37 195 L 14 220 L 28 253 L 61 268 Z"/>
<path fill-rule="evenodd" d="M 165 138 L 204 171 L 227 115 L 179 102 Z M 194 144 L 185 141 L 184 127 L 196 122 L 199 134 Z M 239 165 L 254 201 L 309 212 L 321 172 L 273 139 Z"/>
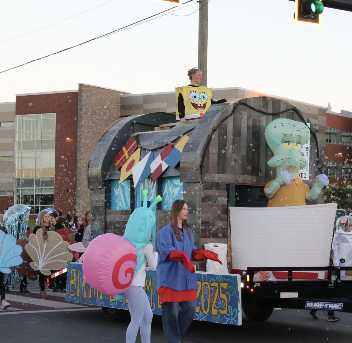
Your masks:
<path fill-rule="evenodd" d="M 266 128 L 277 119 L 292 127 L 279 130 L 282 137 L 272 144 Z M 288 159 L 292 163 L 278 162 Z M 102 133 L 89 161 L 92 238 L 123 236 L 148 189 L 148 202 L 162 197 L 152 228 L 155 246 L 176 199 L 189 206 L 197 247 L 227 245 L 231 273 L 207 273 L 205 262 L 196 263 L 195 319 L 241 325 L 242 309 L 250 320 L 266 320 L 274 307 L 352 312 L 352 281 L 340 275 L 351 267 L 328 266 L 336 204 L 323 204 L 325 171 L 325 155 L 307 117 L 279 99 L 212 105 L 200 119 L 181 124 L 170 113 L 121 118 Z M 278 187 L 266 192 L 273 179 Z M 284 193 L 271 207 L 272 196 L 292 182 L 304 187 L 304 199 L 287 204 Z M 153 313 L 160 314 L 155 272 L 147 271 L 145 290 Z M 69 263 L 66 300 L 102 306 L 109 320 L 128 315 L 126 299 L 89 286 L 80 263 Z"/>

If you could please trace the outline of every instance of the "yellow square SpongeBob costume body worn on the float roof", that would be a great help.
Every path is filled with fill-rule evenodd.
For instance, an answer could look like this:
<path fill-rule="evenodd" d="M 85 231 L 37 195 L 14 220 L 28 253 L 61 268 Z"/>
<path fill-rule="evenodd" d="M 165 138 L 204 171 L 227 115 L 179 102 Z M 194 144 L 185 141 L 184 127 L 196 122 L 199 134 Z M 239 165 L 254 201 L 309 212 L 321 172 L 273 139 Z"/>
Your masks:
<path fill-rule="evenodd" d="M 182 86 L 176 87 L 176 101 L 178 96 L 182 94 L 184 104 L 185 119 L 202 118 L 203 114 L 211 105 L 213 88 L 204 86 Z M 176 111 L 176 120 L 180 120 L 178 109 Z"/>

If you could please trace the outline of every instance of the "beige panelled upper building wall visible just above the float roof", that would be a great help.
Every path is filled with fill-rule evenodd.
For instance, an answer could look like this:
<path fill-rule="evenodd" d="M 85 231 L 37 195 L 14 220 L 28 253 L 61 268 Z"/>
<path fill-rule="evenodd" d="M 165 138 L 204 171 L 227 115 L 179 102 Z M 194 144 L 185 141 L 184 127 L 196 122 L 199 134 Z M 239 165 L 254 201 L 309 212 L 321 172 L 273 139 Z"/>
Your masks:
<path fill-rule="evenodd" d="M 146 94 L 128 94 L 121 96 L 121 116 L 130 116 L 131 114 L 144 114 L 152 112 L 176 113 L 176 93 L 146 93 Z M 318 138 L 323 149 L 326 148 L 326 107 L 316 106 L 300 102 L 297 100 L 286 99 L 280 96 L 261 93 L 251 89 L 240 87 L 234 88 L 214 88 L 214 100 L 229 99 L 238 101 L 240 99 L 253 98 L 257 96 L 270 96 L 272 98 L 287 101 L 289 104 L 302 111 L 311 121 L 312 124 L 318 125 Z"/>

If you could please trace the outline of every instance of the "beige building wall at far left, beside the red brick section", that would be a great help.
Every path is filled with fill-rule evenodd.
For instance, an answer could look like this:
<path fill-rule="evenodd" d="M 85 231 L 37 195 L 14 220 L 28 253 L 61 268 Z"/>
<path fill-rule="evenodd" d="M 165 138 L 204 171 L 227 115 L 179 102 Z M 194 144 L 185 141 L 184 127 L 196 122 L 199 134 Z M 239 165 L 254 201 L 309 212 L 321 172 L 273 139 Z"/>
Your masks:
<path fill-rule="evenodd" d="M 0 197 L 13 196 L 15 102 L 0 104 Z"/>

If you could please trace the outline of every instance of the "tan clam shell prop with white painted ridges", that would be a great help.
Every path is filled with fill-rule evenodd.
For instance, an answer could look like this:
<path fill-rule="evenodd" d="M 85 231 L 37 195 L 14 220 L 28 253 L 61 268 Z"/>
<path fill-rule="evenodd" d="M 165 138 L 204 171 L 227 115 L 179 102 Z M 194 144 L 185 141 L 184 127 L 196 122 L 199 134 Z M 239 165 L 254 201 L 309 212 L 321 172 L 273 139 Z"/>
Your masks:
<path fill-rule="evenodd" d="M 63 241 L 55 231 L 48 231 L 48 240 L 44 241 L 43 229 L 39 229 L 35 235 L 32 233 L 29 236 L 29 241 L 25 249 L 33 260 L 30 266 L 44 275 L 50 275 L 50 269 L 67 267 L 67 262 L 72 260 L 72 254 L 69 252 L 70 244 Z"/>

